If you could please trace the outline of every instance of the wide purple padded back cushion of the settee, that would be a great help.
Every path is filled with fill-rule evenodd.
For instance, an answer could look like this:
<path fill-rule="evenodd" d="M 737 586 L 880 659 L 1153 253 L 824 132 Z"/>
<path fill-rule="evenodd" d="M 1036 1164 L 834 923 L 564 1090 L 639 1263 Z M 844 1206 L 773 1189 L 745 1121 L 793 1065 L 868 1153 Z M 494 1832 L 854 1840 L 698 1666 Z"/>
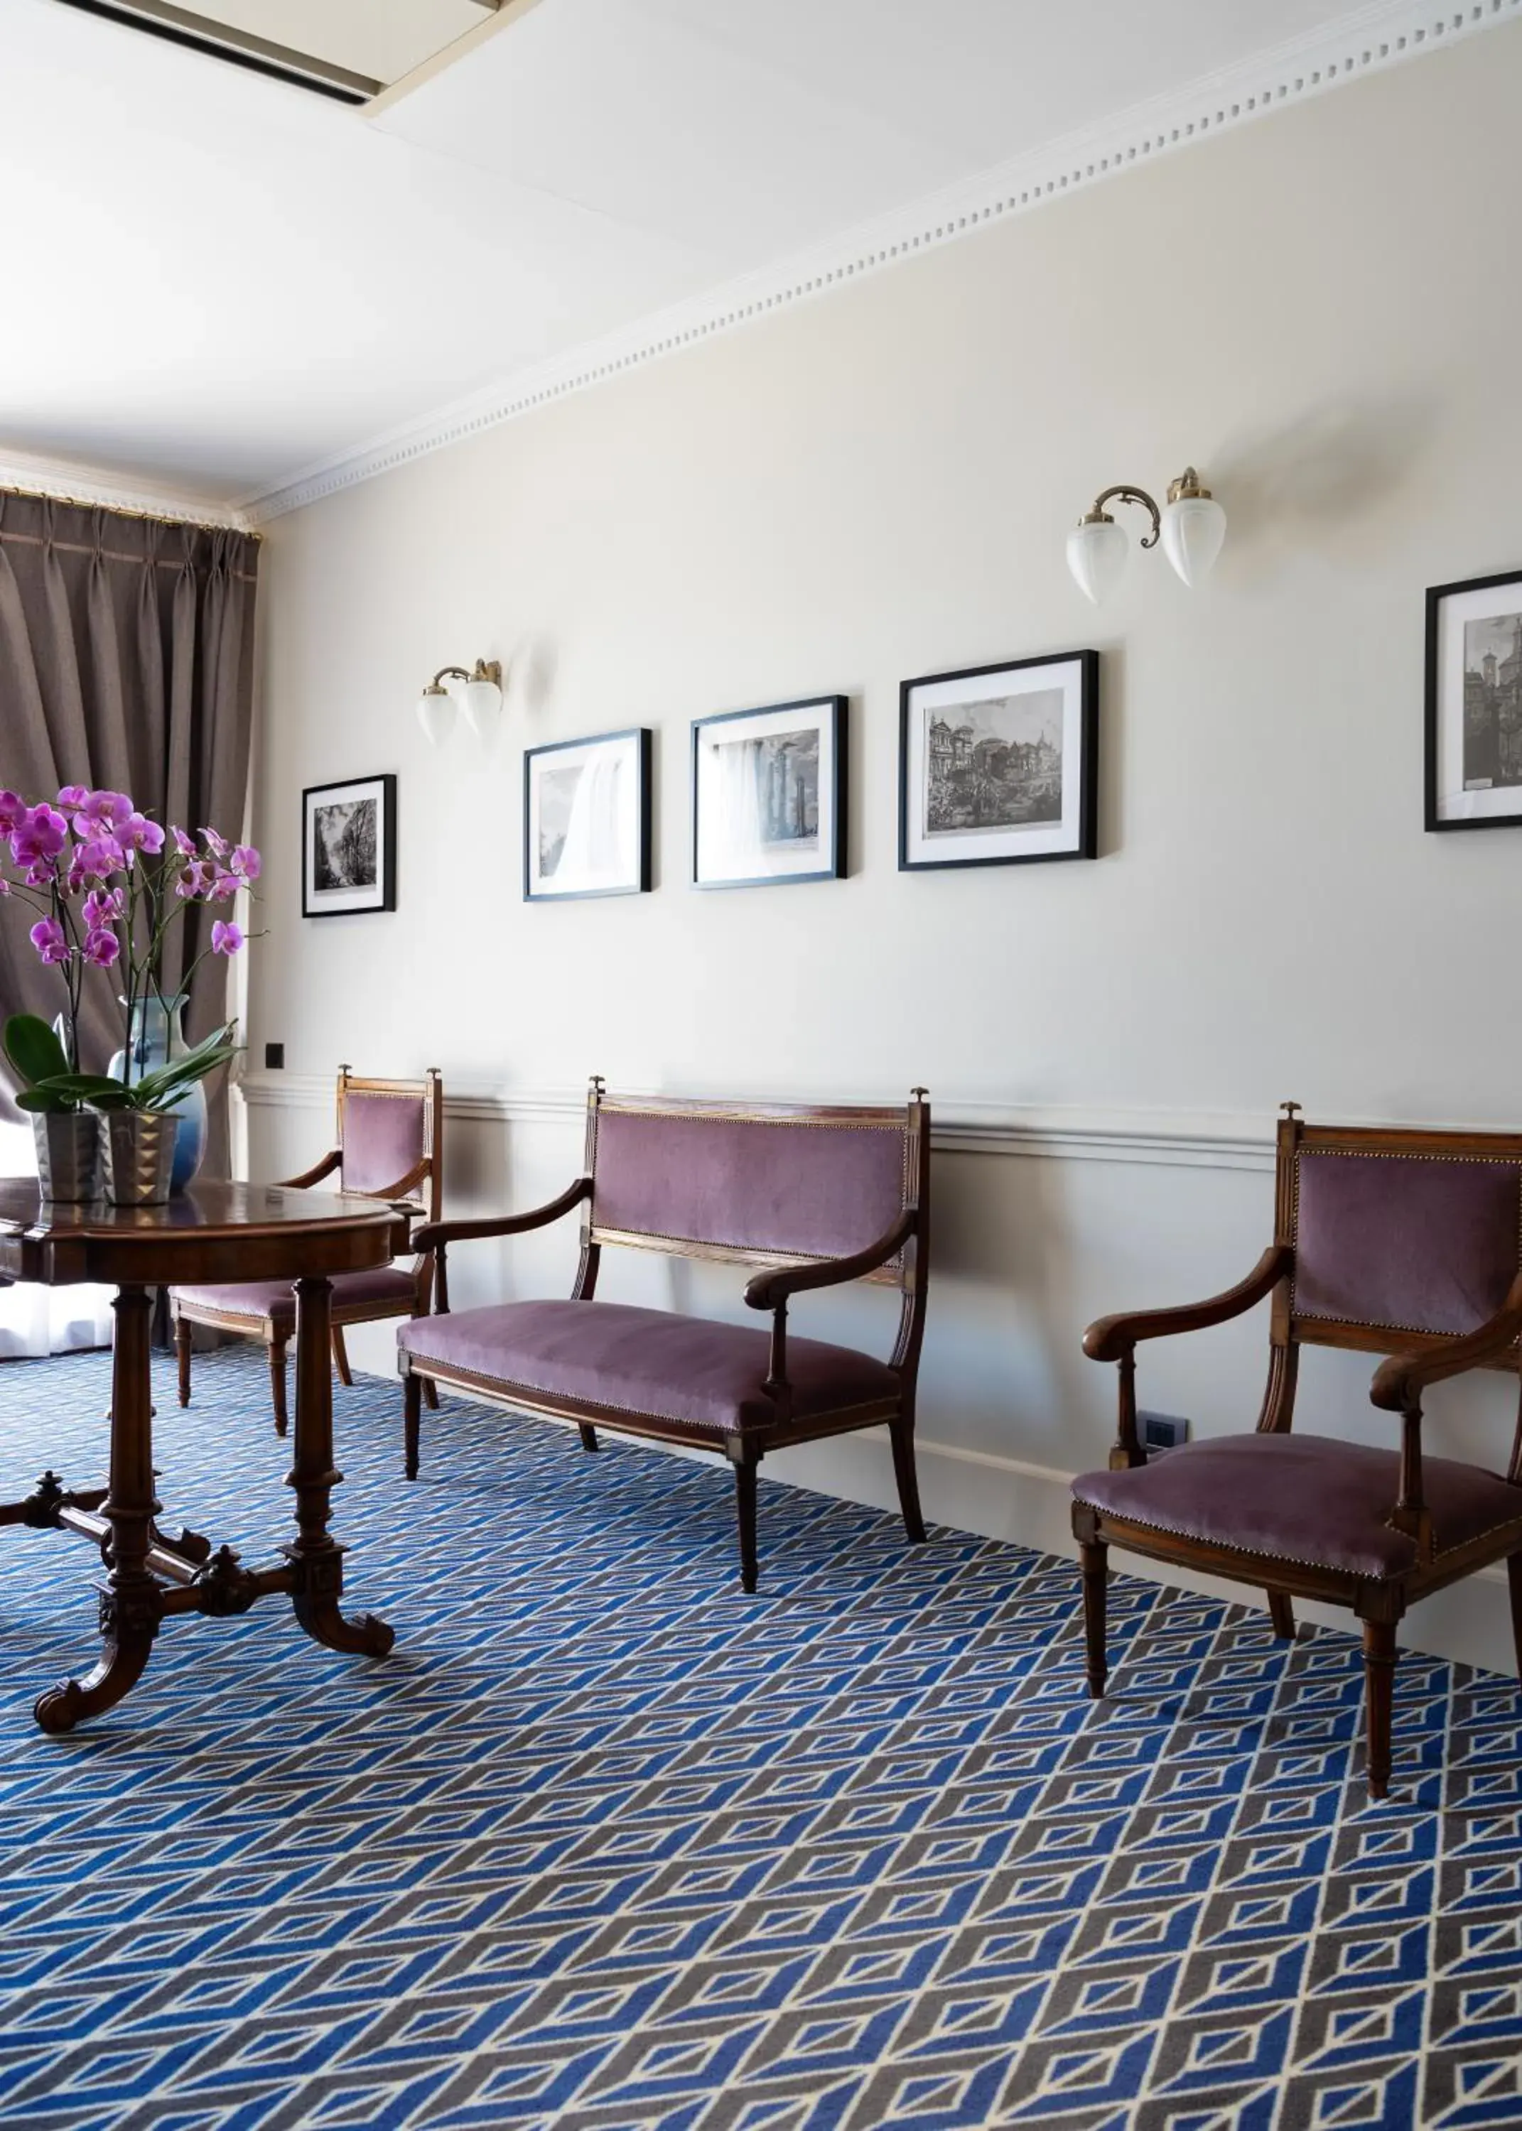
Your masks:
<path fill-rule="evenodd" d="M 846 1257 L 904 1210 L 900 1123 L 597 1112 L 593 1221 L 625 1234 Z"/>

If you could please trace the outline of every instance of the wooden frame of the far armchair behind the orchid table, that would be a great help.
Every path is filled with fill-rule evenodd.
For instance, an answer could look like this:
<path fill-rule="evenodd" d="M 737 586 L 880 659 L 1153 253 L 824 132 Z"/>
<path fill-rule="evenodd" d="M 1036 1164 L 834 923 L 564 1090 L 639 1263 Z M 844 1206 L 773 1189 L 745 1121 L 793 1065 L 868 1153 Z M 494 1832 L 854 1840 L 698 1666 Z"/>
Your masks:
<path fill-rule="evenodd" d="M 350 1198 L 373 1198 L 388 1204 L 401 1204 L 414 1215 L 422 1215 L 424 1223 L 437 1221 L 443 1210 L 443 1078 L 437 1066 L 428 1066 L 422 1080 L 375 1080 L 352 1072 L 347 1066 L 339 1066 L 337 1085 L 337 1146 L 330 1146 L 320 1161 L 313 1161 L 309 1170 L 298 1176 L 281 1178 L 281 1187 L 288 1191 L 307 1191 L 311 1185 L 320 1185 L 326 1176 L 343 1170 L 343 1119 L 350 1095 L 394 1095 L 396 1100 L 418 1102 L 422 1100 L 422 1155 L 405 1172 L 396 1176 L 394 1183 L 386 1185 L 382 1191 L 350 1191 Z M 354 1383 L 350 1370 L 350 1355 L 343 1343 L 345 1325 L 377 1323 L 386 1317 L 426 1317 L 433 1304 L 433 1253 L 428 1249 L 418 1249 L 414 1236 L 414 1302 L 409 1311 L 396 1306 L 396 1302 L 352 1302 L 341 1300 L 341 1291 L 335 1289 L 333 1296 L 333 1366 L 339 1372 L 339 1381 L 345 1385 Z M 171 1296 L 171 1317 L 175 1321 L 175 1353 L 179 1360 L 179 1404 L 190 1404 L 190 1355 L 192 1355 L 192 1323 L 211 1325 L 217 1332 L 237 1332 L 245 1338 L 262 1338 L 269 1351 L 269 1387 L 271 1404 L 275 1411 L 275 1434 L 284 1436 L 288 1430 L 288 1406 L 286 1406 L 286 1345 L 292 1336 L 292 1325 L 284 1319 L 252 1311 L 213 1311 L 207 1304 L 183 1302 L 179 1296 Z M 437 1404 L 437 1394 L 428 1400 Z"/>

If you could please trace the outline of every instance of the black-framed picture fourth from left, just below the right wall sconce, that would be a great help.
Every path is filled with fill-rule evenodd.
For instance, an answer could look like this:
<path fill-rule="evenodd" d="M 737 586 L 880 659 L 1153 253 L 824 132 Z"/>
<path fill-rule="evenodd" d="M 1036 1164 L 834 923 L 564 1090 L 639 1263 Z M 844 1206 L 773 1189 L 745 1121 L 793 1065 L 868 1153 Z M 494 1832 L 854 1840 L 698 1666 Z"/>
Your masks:
<path fill-rule="evenodd" d="M 1098 737 L 1098 652 L 906 680 L 900 869 L 1094 859 Z"/>

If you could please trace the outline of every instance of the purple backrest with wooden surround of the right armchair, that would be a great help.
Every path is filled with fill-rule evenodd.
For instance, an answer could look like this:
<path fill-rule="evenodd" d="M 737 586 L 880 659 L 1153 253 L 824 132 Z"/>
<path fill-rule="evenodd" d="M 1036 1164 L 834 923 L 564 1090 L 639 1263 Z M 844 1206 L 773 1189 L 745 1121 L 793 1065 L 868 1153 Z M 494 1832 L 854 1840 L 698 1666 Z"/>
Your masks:
<path fill-rule="evenodd" d="M 1300 1338 L 1473 1332 L 1522 1268 L 1522 1140 L 1302 1127 L 1285 1183 Z"/>

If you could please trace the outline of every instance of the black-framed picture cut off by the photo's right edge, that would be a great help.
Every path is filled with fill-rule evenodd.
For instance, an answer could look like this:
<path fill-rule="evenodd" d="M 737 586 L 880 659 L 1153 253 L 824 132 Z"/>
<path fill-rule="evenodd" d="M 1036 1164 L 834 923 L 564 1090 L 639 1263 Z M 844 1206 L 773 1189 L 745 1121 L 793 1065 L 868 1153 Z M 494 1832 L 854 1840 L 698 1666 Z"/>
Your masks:
<path fill-rule="evenodd" d="M 1522 823 L 1522 571 L 1426 595 L 1426 827 Z"/>

